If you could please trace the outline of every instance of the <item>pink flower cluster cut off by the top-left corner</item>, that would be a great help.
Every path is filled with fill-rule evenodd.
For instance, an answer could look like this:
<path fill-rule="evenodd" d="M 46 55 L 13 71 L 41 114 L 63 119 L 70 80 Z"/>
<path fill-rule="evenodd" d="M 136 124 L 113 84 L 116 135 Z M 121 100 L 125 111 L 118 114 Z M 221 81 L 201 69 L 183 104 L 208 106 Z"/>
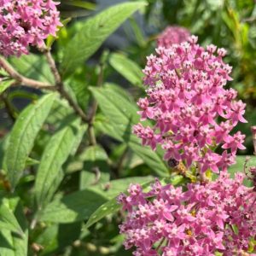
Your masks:
<path fill-rule="evenodd" d="M 52 0 L 0 0 L 0 54 L 28 54 L 29 44 L 41 47 L 61 26 L 58 3 Z"/>

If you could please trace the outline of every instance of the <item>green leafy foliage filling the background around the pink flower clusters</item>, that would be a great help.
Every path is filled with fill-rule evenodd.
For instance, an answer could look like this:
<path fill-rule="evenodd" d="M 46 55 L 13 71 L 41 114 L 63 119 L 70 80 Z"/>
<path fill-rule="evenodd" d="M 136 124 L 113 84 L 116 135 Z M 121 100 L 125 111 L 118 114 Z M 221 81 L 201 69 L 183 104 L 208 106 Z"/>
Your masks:
<path fill-rule="evenodd" d="M 146 56 L 166 26 L 187 27 L 201 44 L 228 49 L 234 67 L 229 84 L 247 102 L 247 134 L 256 125 L 256 5 L 239 0 L 130 1 L 95 14 L 87 1 L 61 1 L 64 26 L 58 38 L 49 37 L 63 86 L 89 119 L 78 115 L 65 96 L 49 90 L 24 90 L 1 70 L 0 107 L 12 125 L 1 125 L 0 139 L 0 255 L 131 255 L 122 247 L 118 225 L 123 212 L 115 198 L 130 183 L 147 188 L 154 177 L 184 183 L 169 173 L 160 148 L 142 147 L 132 135 L 138 122 L 137 99 L 143 96 Z M 149 35 L 137 25 L 143 19 Z M 90 15 L 90 17 L 87 17 Z M 126 22 L 125 22 L 126 21 Z M 104 41 L 125 22 L 125 49 L 110 51 Z M 94 61 L 92 61 L 94 60 Z M 97 60 L 97 61 L 95 61 Z M 55 84 L 45 56 L 11 57 L 22 75 Z M 18 85 L 18 86 L 17 86 Z M 19 86 L 20 85 L 20 86 Z M 25 98 L 24 109 L 15 102 Z M 242 172 L 239 156 L 230 172 Z M 252 165 L 255 160 L 252 161 Z"/>

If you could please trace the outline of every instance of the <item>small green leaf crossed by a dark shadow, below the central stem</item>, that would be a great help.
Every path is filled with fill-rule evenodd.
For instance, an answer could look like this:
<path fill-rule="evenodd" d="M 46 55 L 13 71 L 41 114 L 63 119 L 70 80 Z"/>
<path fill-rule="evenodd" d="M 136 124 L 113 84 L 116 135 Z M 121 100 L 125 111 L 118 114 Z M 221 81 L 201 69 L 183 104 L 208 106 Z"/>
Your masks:
<path fill-rule="evenodd" d="M 90 146 L 79 158 L 84 161 L 84 168 L 80 174 L 80 189 L 87 189 L 91 185 L 101 184 L 109 180 L 108 154 L 102 147 L 99 145 Z"/>

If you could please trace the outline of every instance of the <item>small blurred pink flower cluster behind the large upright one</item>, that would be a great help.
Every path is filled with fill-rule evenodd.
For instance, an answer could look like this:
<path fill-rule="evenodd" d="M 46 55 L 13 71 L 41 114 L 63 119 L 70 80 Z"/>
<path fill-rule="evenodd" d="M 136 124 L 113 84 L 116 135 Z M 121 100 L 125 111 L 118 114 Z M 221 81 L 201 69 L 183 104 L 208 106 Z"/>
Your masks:
<path fill-rule="evenodd" d="M 158 47 L 169 48 L 172 44 L 180 44 L 189 39 L 189 31 L 182 26 L 167 26 L 157 39 Z"/>

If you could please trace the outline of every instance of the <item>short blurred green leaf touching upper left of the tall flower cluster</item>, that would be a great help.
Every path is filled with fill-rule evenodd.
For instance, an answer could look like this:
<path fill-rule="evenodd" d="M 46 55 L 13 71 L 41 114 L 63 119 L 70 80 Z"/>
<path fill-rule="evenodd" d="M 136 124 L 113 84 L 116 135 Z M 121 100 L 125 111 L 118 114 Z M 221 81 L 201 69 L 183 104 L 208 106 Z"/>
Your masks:
<path fill-rule="evenodd" d="M 112 54 L 110 55 L 109 63 L 131 84 L 143 87 L 143 72 L 142 68 L 136 62 L 131 61 L 125 55 Z"/>

